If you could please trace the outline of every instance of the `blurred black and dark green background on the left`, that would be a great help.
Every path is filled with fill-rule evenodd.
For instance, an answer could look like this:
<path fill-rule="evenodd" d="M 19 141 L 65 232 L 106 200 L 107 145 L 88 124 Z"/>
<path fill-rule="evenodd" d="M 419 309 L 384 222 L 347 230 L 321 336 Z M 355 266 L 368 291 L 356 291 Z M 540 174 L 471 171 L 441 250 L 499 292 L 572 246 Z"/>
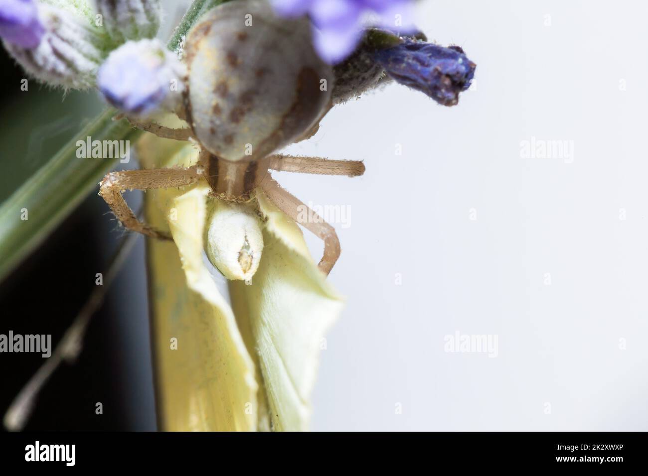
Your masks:
<path fill-rule="evenodd" d="M 102 109 L 96 93 L 52 90 L 25 74 L 0 49 L 0 203 Z M 91 160 L 91 159 L 89 159 Z M 136 168 L 131 161 L 128 168 Z M 128 194 L 133 208 L 140 197 Z M 51 334 L 52 350 L 106 266 L 123 232 L 92 193 L 44 245 L 0 282 L 0 334 Z M 144 242 L 133 251 L 89 325 L 73 365 L 45 385 L 27 430 L 154 430 Z M 0 353 L 0 413 L 45 359 Z M 103 414 L 95 413 L 101 402 Z"/>

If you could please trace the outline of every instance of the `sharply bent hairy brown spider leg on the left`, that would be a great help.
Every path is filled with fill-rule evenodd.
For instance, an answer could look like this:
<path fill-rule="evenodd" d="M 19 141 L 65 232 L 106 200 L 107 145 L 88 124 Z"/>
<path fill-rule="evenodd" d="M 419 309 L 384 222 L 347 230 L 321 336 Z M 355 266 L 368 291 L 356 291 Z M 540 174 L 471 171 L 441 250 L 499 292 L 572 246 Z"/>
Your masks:
<path fill-rule="evenodd" d="M 171 237 L 137 220 L 133 210 L 122 196 L 124 190 L 150 190 L 152 188 L 176 188 L 195 183 L 200 179 L 199 166 L 188 168 L 152 168 L 149 170 L 123 170 L 110 172 L 99 183 L 99 195 L 121 221 L 124 227 L 153 238 L 170 240 Z"/>

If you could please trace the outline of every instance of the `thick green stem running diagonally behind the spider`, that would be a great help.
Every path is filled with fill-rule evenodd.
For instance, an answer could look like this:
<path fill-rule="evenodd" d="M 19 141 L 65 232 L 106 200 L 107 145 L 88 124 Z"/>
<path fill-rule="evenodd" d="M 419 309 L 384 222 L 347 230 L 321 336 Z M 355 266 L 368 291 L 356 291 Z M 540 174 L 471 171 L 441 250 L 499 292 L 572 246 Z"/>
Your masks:
<path fill-rule="evenodd" d="M 203 13 L 224 0 L 194 0 L 168 42 L 178 48 L 181 38 L 189 32 Z M 141 131 L 126 119 L 113 121 L 115 109 L 106 109 L 76 137 L 67 142 L 36 174 L 0 206 L 0 281 L 61 223 L 93 190 L 100 179 L 119 159 L 79 159 L 76 142 L 135 141 Z M 22 220 L 27 210 L 27 220 Z"/>

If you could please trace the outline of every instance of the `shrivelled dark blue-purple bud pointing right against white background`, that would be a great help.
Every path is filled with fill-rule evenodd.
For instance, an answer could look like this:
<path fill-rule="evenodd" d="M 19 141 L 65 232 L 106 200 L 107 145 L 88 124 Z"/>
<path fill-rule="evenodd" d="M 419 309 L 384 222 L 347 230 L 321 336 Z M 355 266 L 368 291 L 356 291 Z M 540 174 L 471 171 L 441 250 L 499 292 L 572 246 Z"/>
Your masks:
<path fill-rule="evenodd" d="M 409 39 L 377 50 L 374 57 L 395 81 L 425 93 L 443 106 L 459 102 L 459 93 L 470 87 L 476 68 L 458 46 L 445 48 Z"/>

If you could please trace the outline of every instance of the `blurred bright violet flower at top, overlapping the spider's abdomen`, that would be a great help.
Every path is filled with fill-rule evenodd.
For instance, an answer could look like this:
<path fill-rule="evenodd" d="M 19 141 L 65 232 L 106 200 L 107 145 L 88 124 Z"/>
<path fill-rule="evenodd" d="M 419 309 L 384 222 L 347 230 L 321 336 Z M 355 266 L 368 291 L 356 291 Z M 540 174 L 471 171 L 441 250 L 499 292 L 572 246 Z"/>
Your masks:
<path fill-rule="evenodd" d="M 413 14 L 410 0 L 273 0 L 277 14 L 299 17 L 308 14 L 314 25 L 314 45 L 328 63 L 339 63 L 360 42 L 362 16 L 378 15 L 378 24 L 388 30 L 411 32 Z"/>

